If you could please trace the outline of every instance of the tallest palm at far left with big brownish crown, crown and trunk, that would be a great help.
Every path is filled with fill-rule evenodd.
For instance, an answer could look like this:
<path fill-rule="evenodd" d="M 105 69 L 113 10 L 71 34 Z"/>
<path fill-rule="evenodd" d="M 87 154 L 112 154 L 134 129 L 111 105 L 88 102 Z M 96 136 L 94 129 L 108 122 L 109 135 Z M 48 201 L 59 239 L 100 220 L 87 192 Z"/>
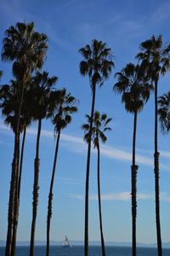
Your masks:
<path fill-rule="evenodd" d="M 6 240 L 5 256 L 11 256 L 11 240 L 14 216 L 14 189 L 16 183 L 16 172 L 19 166 L 19 136 L 20 136 L 20 112 L 23 102 L 23 95 L 26 82 L 30 79 L 35 68 L 42 67 L 44 56 L 48 45 L 47 36 L 34 31 L 34 24 L 16 23 L 10 26 L 5 32 L 3 39 L 2 59 L 13 61 L 13 73 L 20 81 L 20 108 L 17 113 L 17 125 L 14 139 L 14 159 L 12 164 L 11 182 L 8 200 L 8 231 Z"/>

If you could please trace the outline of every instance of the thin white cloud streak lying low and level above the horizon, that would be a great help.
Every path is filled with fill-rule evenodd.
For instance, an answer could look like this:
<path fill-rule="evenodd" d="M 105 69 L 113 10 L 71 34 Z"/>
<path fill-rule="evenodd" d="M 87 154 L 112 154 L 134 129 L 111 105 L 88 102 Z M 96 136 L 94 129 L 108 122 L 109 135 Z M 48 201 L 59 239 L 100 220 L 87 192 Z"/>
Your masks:
<path fill-rule="evenodd" d="M 77 199 L 77 200 L 83 200 L 84 196 L 80 194 L 69 194 L 70 198 Z M 146 200 L 154 200 L 153 194 L 144 194 L 139 193 L 137 194 L 137 200 L 139 201 L 146 201 Z M 160 194 L 161 201 L 170 201 L 170 196 L 167 195 L 166 192 L 161 192 Z M 98 195 L 93 194 L 89 195 L 90 201 L 98 201 Z M 130 201 L 131 200 L 131 193 L 129 191 L 121 192 L 121 193 L 110 193 L 110 194 L 104 194 L 101 195 L 102 201 Z"/>

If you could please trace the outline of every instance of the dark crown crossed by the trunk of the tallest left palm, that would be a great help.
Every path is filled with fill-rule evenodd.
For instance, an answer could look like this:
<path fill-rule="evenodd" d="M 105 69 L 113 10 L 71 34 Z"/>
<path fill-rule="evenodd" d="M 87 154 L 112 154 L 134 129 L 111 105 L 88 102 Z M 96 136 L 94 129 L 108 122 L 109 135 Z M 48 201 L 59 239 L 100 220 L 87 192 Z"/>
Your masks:
<path fill-rule="evenodd" d="M 26 93 L 27 90 L 29 90 L 29 87 L 30 83 L 27 82 L 20 113 L 20 132 L 22 132 L 26 126 L 31 124 L 31 113 L 26 98 Z M 11 80 L 11 85 L 5 84 L 0 87 L 0 108 L 2 109 L 3 116 L 6 117 L 4 119 L 4 123 L 9 125 L 14 133 L 16 132 L 17 128 L 18 110 L 20 108 L 20 94 L 21 86 L 17 81 Z"/>

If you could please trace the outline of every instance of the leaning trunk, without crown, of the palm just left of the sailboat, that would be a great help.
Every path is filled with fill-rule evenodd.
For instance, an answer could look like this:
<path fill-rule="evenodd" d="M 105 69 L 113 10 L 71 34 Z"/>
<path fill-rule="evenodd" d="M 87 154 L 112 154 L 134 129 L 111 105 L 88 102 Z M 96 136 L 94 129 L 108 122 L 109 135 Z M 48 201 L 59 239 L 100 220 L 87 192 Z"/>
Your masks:
<path fill-rule="evenodd" d="M 55 168 L 56 168 L 56 163 L 57 163 L 57 155 L 58 155 L 58 151 L 59 151 L 59 137 L 60 137 L 60 131 L 58 132 L 58 136 L 57 136 L 57 142 L 56 142 L 55 154 L 54 154 L 54 166 L 53 166 L 53 172 L 52 172 L 52 177 L 51 177 L 50 189 L 49 189 L 49 194 L 48 194 L 46 256 L 49 256 L 49 231 L 50 231 L 50 221 L 51 221 L 51 218 L 52 218 L 54 175 L 55 175 Z"/>

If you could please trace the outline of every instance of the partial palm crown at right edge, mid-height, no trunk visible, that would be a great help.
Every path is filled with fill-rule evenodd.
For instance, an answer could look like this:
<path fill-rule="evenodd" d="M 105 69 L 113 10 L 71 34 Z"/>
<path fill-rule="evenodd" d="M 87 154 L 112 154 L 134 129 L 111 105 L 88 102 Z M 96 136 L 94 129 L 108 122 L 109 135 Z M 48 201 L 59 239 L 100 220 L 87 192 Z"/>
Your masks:
<path fill-rule="evenodd" d="M 159 120 L 161 125 L 161 131 L 167 133 L 170 131 L 170 92 L 159 97 L 158 100 L 159 109 Z"/>

